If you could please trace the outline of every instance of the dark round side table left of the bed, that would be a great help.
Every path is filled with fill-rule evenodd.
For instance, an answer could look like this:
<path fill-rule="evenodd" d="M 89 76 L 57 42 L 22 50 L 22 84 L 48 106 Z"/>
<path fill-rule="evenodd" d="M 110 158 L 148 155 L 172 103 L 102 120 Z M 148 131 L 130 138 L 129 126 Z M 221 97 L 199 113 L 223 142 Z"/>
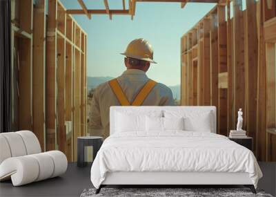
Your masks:
<path fill-rule="evenodd" d="M 103 138 L 99 136 L 82 136 L 77 138 L 77 166 L 84 167 L 84 147 L 93 147 L 93 160 L 103 144 Z"/>

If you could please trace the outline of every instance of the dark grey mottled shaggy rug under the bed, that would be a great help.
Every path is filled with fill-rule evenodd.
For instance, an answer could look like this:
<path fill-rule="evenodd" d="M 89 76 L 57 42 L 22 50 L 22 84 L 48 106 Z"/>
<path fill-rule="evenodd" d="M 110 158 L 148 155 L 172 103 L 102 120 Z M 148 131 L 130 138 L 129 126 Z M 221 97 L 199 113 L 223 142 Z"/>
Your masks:
<path fill-rule="evenodd" d="M 84 189 L 81 197 L 92 196 L 146 196 L 146 197 L 205 197 L 205 196 L 267 196 L 273 197 L 270 194 L 265 194 L 263 190 L 257 190 L 257 194 L 253 194 L 248 188 L 102 188 L 99 194 L 95 194 L 96 189 Z"/>

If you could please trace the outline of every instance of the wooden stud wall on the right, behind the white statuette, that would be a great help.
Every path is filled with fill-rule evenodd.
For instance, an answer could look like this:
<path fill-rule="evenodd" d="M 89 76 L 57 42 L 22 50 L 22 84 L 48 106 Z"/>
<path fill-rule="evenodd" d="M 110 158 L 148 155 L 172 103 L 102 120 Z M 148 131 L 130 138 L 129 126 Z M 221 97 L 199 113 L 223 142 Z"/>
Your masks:
<path fill-rule="evenodd" d="M 276 3 L 247 0 L 243 10 L 244 1 L 230 2 L 210 10 L 181 37 L 181 105 L 217 106 L 217 131 L 222 135 L 235 129 L 242 108 L 243 128 L 254 139 L 257 158 L 276 160 Z"/>

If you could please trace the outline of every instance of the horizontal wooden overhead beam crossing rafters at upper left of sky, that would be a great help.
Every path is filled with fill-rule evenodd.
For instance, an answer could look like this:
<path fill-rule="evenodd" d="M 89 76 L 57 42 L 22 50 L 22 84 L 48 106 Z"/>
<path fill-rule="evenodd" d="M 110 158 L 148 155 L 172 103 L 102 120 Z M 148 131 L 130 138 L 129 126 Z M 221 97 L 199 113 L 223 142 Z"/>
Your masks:
<path fill-rule="evenodd" d="M 88 14 L 91 15 L 108 15 L 106 10 L 87 10 Z M 110 15 L 129 15 L 130 10 L 109 10 Z M 67 14 L 70 15 L 85 15 L 83 10 L 66 10 Z"/>

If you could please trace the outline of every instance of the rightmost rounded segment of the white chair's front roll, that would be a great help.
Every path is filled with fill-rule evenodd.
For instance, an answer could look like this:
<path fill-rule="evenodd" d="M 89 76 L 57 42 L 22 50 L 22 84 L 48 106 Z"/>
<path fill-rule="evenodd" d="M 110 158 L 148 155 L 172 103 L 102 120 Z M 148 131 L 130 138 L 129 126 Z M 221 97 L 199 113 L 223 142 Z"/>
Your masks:
<path fill-rule="evenodd" d="M 45 152 L 45 154 L 48 154 L 52 157 L 52 160 L 54 161 L 54 172 L 52 173 L 52 177 L 59 176 L 62 173 L 66 172 L 68 161 L 66 158 L 66 155 L 61 151 L 48 151 Z"/>

